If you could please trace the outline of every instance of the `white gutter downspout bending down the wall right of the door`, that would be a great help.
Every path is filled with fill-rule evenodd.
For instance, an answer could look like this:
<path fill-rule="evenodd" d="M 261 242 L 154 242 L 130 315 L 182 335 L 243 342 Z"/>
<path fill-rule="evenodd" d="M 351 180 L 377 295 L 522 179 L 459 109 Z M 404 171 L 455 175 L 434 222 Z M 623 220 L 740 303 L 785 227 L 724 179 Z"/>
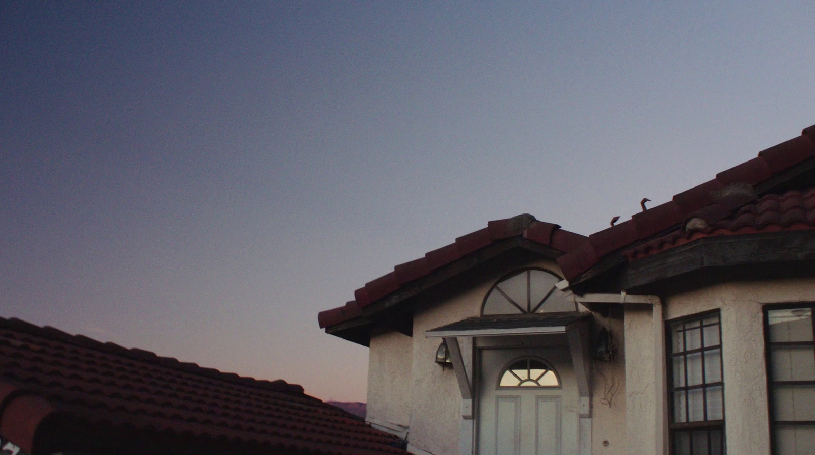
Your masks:
<path fill-rule="evenodd" d="M 562 290 L 569 288 L 568 281 L 557 283 Z M 654 454 L 667 453 L 667 384 L 665 382 L 665 325 L 663 305 L 659 296 L 653 294 L 572 294 L 575 303 L 620 303 L 624 305 L 651 306 L 651 333 L 654 334 Z"/>

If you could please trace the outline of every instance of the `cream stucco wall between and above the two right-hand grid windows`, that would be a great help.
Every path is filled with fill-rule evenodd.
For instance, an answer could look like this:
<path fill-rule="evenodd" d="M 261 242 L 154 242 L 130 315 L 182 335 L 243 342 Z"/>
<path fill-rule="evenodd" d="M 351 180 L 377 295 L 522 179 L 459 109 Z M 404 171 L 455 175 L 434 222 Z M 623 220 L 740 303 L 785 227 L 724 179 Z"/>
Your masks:
<path fill-rule="evenodd" d="M 667 299 L 666 319 L 720 309 L 728 453 L 770 453 L 762 308 L 815 301 L 815 280 L 738 282 Z"/>

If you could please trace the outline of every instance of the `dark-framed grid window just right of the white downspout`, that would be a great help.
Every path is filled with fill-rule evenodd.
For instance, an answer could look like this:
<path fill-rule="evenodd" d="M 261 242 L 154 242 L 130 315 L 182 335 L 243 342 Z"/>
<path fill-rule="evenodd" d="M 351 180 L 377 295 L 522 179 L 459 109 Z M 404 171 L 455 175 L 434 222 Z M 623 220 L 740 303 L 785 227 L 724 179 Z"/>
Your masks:
<path fill-rule="evenodd" d="M 674 455 L 725 452 L 719 313 L 669 323 L 668 369 Z"/>

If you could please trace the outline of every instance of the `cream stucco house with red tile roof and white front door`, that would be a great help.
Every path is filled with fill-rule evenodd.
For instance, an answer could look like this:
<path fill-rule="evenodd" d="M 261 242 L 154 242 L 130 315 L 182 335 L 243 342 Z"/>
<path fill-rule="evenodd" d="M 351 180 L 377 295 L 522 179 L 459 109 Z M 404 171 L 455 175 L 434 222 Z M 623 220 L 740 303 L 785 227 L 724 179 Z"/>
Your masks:
<path fill-rule="evenodd" d="M 319 314 L 410 453 L 815 453 L 815 126 L 579 236 L 492 221 Z"/>

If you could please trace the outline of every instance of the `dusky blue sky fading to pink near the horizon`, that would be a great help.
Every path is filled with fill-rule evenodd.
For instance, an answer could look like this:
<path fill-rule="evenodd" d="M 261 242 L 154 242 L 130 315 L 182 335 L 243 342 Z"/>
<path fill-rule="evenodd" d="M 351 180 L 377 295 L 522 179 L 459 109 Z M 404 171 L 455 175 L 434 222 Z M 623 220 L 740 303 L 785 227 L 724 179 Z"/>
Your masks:
<path fill-rule="evenodd" d="M 0 1 L 0 316 L 323 400 L 317 313 L 588 235 L 815 124 L 815 2 Z M 432 361 L 432 359 L 428 359 Z"/>

